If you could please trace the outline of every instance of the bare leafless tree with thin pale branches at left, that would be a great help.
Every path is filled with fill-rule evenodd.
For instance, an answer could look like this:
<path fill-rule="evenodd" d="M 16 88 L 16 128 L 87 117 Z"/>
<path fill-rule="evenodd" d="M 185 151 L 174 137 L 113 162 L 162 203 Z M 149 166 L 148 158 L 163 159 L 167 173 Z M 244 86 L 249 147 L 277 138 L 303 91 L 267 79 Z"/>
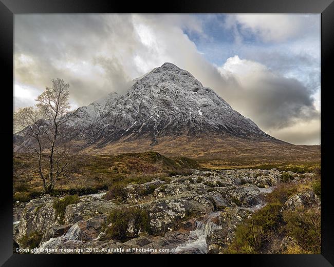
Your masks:
<path fill-rule="evenodd" d="M 70 119 L 69 84 L 59 78 L 51 81 L 52 87 L 46 87 L 36 98 L 35 107 L 18 109 L 14 113 L 14 125 L 24 128 L 23 132 L 31 137 L 23 146 L 27 151 L 38 155 L 39 174 L 45 193 L 53 190 L 71 160 L 70 142 L 66 140 L 66 133 L 63 131 L 64 124 Z M 47 172 L 42 168 L 45 158 Z"/>

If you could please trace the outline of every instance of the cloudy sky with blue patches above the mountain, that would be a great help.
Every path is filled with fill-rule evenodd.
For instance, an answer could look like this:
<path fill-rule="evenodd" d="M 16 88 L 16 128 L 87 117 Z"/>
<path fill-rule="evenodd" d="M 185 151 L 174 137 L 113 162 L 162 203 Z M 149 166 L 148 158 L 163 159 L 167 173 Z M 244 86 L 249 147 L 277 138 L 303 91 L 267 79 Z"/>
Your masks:
<path fill-rule="evenodd" d="M 171 62 L 268 134 L 317 145 L 320 36 L 320 14 L 17 14 L 14 106 L 57 77 L 75 109 Z"/>

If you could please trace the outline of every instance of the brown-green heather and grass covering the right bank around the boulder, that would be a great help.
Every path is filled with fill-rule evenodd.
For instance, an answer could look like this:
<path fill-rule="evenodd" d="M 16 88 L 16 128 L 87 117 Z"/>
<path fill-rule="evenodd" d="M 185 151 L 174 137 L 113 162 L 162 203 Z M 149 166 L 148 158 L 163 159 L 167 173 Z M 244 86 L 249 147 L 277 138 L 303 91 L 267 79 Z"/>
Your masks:
<path fill-rule="evenodd" d="M 265 199 L 267 206 L 255 211 L 249 219 L 237 225 L 235 238 L 228 245 L 226 254 L 263 253 L 270 247 L 272 238 L 293 237 L 284 254 L 319 254 L 321 251 L 321 211 L 316 209 L 280 210 L 288 198 L 298 192 L 309 192 L 311 187 L 321 194 L 320 179 L 304 183 L 281 183 Z M 319 192 L 320 190 L 320 192 Z"/>

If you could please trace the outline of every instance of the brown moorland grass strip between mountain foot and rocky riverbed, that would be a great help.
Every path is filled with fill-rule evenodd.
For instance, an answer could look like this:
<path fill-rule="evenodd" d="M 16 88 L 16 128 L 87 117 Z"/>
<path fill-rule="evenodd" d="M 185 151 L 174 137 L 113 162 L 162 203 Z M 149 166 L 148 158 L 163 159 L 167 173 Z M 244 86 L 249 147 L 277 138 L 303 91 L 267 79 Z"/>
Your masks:
<path fill-rule="evenodd" d="M 312 148 L 314 149 L 314 148 Z M 318 149 L 318 148 L 317 148 Z M 108 190 L 115 185 L 143 183 L 154 178 L 168 179 L 173 175 L 190 174 L 191 169 L 272 169 L 309 172 L 320 168 L 316 154 L 300 153 L 300 158 L 280 155 L 266 157 L 240 156 L 225 158 L 197 158 L 177 156 L 169 158 L 157 152 L 119 155 L 75 154 L 73 160 L 54 188 L 54 194 L 83 195 Z M 45 166 L 45 171 L 47 166 Z M 29 201 L 42 192 L 36 158 L 30 154 L 13 155 L 13 200 Z"/>

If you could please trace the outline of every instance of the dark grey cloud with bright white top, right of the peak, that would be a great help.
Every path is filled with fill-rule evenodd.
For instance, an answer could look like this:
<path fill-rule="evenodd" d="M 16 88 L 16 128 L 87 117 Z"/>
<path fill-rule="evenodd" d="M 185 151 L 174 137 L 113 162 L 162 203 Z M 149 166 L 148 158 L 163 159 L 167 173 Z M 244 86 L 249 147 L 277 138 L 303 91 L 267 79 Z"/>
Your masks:
<path fill-rule="evenodd" d="M 238 86 L 221 89 L 221 94 L 236 110 L 265 129 L 280 129 L 296 120 L 320 117 L 313 105 L 314 91 L 299 80 L 275 74 L 262 64 L 238 56 L 229 58 L 220 71 L 238 81 Z"/>

